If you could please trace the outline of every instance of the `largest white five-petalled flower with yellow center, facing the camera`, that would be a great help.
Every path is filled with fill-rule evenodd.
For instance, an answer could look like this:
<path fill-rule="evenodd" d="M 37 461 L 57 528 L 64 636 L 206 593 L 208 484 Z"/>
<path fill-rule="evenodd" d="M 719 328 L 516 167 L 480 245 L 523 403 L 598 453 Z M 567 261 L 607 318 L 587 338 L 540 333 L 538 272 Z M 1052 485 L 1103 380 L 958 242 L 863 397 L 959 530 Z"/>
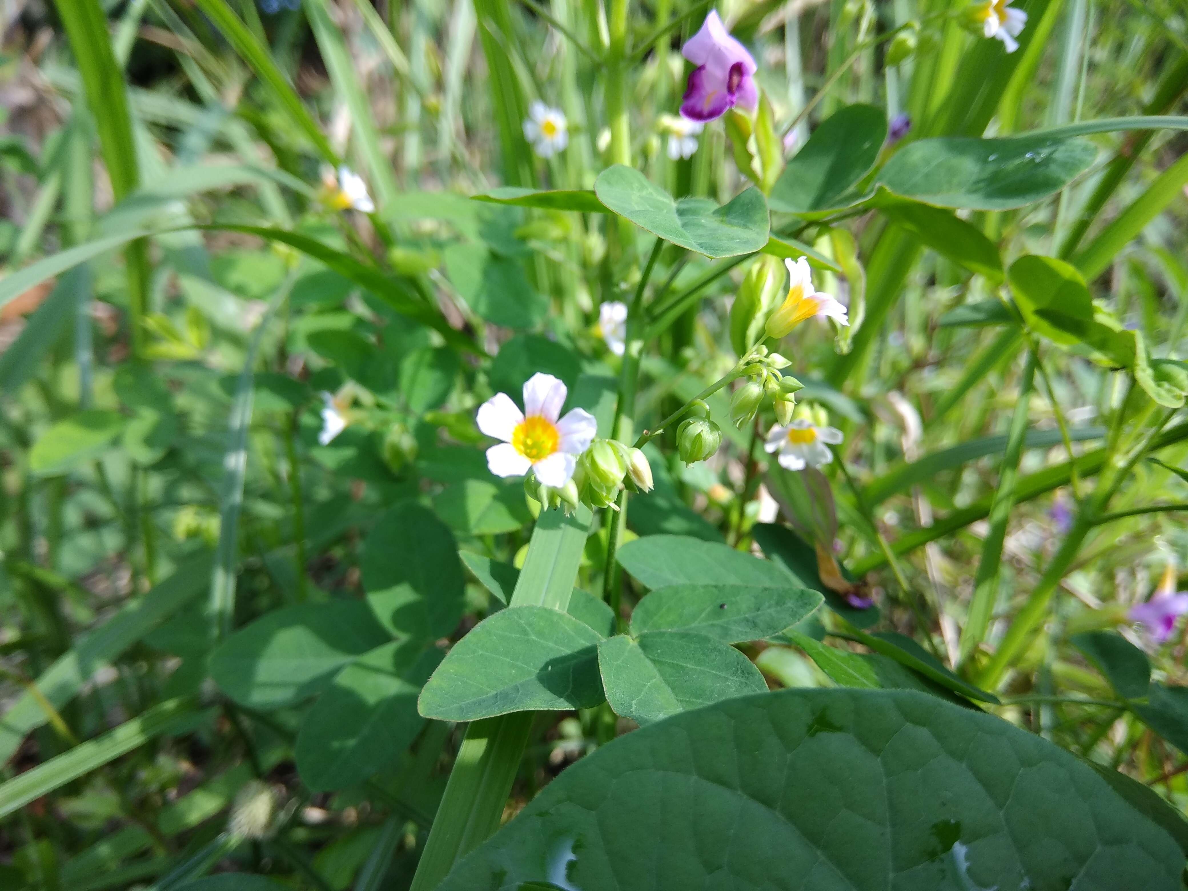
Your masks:
<path fill-rule="evenodd" d="M 507 393 L 495 393 L 479 406 L 479 429 L 503 440 L 487 449 L 491 473 L 523 476 L 531 468 L 544 486 L 561 488 L 569 482 L 598 423 L 584 409 L 571 409 L 558 421 L 567 393 L 555 377 L 537 372 L 524 384 L 524 411 Z"/>

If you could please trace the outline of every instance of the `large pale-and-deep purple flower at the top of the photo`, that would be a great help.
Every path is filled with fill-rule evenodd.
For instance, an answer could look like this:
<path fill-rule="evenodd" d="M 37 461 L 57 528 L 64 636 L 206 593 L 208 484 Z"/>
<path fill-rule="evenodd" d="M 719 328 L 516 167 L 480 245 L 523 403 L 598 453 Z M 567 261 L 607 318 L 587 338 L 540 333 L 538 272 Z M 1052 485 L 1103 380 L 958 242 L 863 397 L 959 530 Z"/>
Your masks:
<path fill-rule="evenodd" d="M 754 59 L 731 37 L 716 10 L 710 10 L 701 30 L 689 38 L 681 55 L 697 65 L 681 103 L 681 114 L 695 121 L 721 118 L 734 106 L 752 109 L 759 101 L 752 75 Z"/>

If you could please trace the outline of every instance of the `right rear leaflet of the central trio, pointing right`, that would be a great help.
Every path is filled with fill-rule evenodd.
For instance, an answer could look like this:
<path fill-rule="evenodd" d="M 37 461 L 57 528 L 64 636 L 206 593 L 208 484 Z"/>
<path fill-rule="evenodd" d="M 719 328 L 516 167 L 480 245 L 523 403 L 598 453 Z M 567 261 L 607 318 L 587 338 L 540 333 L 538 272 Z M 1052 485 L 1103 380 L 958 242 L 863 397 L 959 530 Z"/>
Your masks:
<path fill-rule="evenodd" d="M 645 596 L 631 614 L 631 633 L 695 631 L 738 644 L 791 627 L 821 605 L 808 588 L 737 584 L 674 584 Z"/>

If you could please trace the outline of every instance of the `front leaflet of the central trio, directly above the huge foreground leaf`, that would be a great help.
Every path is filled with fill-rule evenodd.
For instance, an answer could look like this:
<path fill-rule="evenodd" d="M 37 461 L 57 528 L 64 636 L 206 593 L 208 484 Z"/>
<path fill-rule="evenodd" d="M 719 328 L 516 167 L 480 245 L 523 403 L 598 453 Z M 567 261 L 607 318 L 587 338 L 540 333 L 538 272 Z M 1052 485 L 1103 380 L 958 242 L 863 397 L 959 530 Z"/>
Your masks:
<path fill-rule="evenodd" d="M 618 634 L 599 644 L 598 663 L 611 708 L 638 723 L 767 689 L 733 646 L 682 631 Z"/>

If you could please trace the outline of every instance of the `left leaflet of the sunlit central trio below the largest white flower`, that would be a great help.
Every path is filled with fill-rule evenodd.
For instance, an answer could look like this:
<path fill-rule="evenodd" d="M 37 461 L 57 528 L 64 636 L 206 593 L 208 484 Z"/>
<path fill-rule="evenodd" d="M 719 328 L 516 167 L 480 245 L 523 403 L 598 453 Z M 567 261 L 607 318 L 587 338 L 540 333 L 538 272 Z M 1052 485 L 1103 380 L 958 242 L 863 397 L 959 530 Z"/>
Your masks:
<path fill-rule="evenodd" d="M 421 714 L 475 721 L 510 712 L 592 708 L 604 699 L 600 640 L 589 625 L 557 609 L 500 609 L 454 644 L 421 691 Z"/>

